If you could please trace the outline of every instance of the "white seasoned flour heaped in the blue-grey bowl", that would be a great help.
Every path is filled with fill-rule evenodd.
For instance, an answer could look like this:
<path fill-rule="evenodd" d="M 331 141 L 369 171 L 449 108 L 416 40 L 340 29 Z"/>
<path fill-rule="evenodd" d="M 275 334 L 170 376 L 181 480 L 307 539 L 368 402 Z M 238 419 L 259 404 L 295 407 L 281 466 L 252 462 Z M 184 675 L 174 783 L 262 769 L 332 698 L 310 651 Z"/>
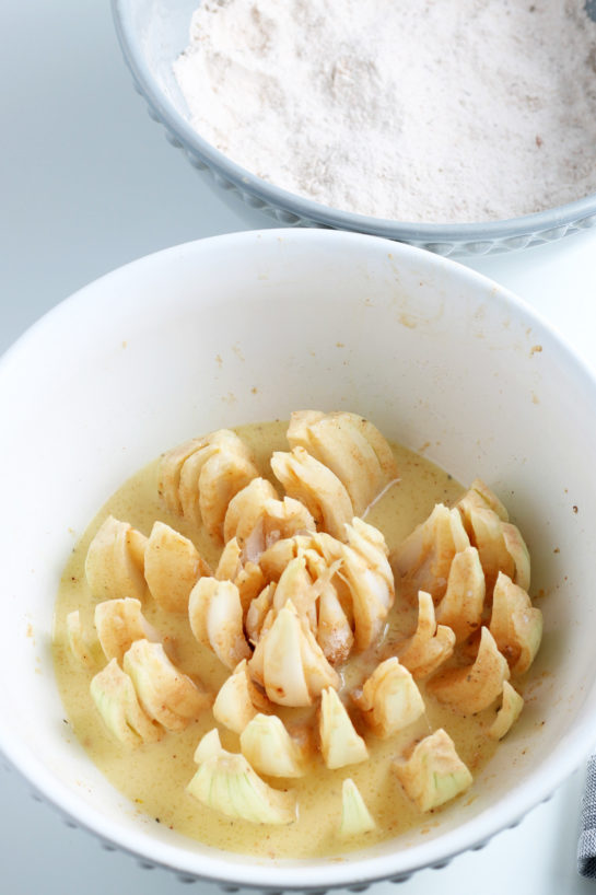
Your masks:
<path fill-rule="evenodd" d="M 203 0 L 174 69 L 194 127 L 277 186 L 402 221 L 596 191 L 585 0 Z"/>

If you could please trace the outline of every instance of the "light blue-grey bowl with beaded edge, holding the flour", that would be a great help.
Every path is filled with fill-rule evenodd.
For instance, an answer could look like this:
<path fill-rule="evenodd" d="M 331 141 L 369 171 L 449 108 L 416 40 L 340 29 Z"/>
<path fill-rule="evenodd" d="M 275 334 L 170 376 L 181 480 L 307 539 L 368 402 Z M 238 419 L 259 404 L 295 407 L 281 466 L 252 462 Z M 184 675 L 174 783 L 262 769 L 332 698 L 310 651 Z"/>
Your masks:
<path fill-rule="evenodd" d="M 198 0 L 113 0 L 116 31 L 137 91 L 170 142 L 221 191 L 222 198 L 288 226 L 326 226 L 385 236 L 441 255 L 494 254 L 596 226 L 596 194 L 537 213 L 477 223 L 390 220 L 342 211 L 282 189 L 236 164 L 203 139 L 190 114 L 173 65 L 189 43 L 189 24 Z M 587 0 L 596 21 L 596 0 Z M 595 73 L 596 82 L 596 73 Z M 596 86 L 595 86 L 596 89 Z M 264 219 L 265 220 L 265 219 Z"/>

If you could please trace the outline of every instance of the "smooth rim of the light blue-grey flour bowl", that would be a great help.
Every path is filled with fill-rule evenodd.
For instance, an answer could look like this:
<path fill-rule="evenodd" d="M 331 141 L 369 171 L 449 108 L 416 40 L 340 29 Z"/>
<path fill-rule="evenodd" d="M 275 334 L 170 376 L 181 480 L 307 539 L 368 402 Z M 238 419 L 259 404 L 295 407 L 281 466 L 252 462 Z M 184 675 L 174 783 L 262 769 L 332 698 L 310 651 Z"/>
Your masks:
<path fill-rule="evenodd" d="M 461 223 L 396 221 L 342 211 L 270 184 L 215 149 L 167 101 L 145 62 L 138 33 L 131 21 L 130 0 L 110 1 L 118 43 L 133 81 L 150 107 L 187 154 L 202 161 L 241 191 L 248 193 L 264 204 L 272 204 L 282 212 L 290 212 L 311 225 L 320 224 L 339 230 L 354 230 L 390 240 L 424 243 L 428 246 L 440 247 L 441 244 L 482 244 L 502 240 L 510 241 L 515 237 L 530 237 L 534 234 L 546 234 L 561 228 L 566 229 L 596 214 L 596 193 L 594 193 L 544 211 L 496 221 Z"/>

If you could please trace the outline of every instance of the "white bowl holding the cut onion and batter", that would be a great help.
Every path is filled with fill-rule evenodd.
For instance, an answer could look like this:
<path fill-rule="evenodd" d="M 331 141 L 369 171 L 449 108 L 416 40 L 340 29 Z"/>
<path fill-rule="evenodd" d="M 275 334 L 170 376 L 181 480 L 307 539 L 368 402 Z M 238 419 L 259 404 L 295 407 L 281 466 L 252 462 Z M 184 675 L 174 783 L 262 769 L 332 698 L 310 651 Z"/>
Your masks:
<path fill-rule="evenodd" d="M 54 600 L 105 498 L 176 442 L 220 426 L 349 408 L 502 495 L 544 591 L 533 699 L 425 836 L 341 861 L 262 861 L 186 840 L 110 788 L 62 723 Z M 596 740 L 596 383 L 537 315 L 452 261 L 358 234 L 265 231 L 191 243 L 104 277 L 0 363 L 0 748 L 105 842 L 224 886 L 401 880 L 486 842 Z M 574 509 L 576 508 L 576 509 Z"/>

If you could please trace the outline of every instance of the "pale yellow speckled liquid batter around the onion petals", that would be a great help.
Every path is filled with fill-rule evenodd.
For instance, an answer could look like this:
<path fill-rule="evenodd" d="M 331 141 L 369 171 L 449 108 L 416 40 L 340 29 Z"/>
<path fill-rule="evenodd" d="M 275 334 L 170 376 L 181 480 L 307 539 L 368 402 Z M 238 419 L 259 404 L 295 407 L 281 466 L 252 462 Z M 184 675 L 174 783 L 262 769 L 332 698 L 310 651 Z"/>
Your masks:
<path fill-rule="evenodd" d="M 287 428 L 287 422 L 277 421 L 236 430 L 253 450 L 257 466 L 266 477 L 271 477 L 268 465 L 271 452 L 288 449 Z M 394 452 L 400 479 L 387 489 L 365 516 L 366 522 L 384 533 L 389 549 L 422 522 L 435 503 L 451 503 L 464 490 L 445 472 L 418 454 L 399 445 L 394 445 Z M 212 568 L 217 566 L 221 547 L 214 545 L 204 532 L 197 533 L 184 520 L 164 510 L 157 496 L 155 461 L 129 479 L 102 508 L 65 570 L 55 619 L 58 685 L 74 733 L 92 760 L 119 791 L 155 821 L 167 824 L 185 836 L 230 851 L 264 857 L 331 856 L 350 848 L 372 845 L 416 826 L 428 825 L 428 815 L 420 814 L 406 798 L 390 769 L 392 759 L 399 755 L 400 746 L 411 742 L 411 730 L 408 731 L 405 743 L 400 742 L 399 736 L 377 740 L 370 731 L 359 730 L 366 737 L 370 760 L 340 770 L 328 770 L 317 754 L 308 775 L 288 781 L 288 788 L 292 788 L 297 794 L 299 820 L 281 827 L 232 821 L 204 807 L 186 792 L 186 784 L 197 769 L 192 760 L 197 743 L 214 727 L 210 709 L 204 711 L 200 721 L 184 732 L 166 733 L 155 744 L 130 749 L 112 737 L 89 693 L 91 678 L 102 666 L 102 660 L 97 656 L 95 670 L 84 669 L 70 652 L 66 637 L 66 617 L 73 609 L 80 609 L 83 626 L 87 630 L 92 629 L 95 601 L 92 600 L 84 579 L 84 560 L 93 536 L 110 513 L 147 535 L 153 522 L 162 520 L 190 537 Z M 197 643 L 186 616 L 168 615 L 151 600 L 145 602 L 143 614 L 159 631 L 170 638 L 167 651 L 174 663 L 190 676 L 200 678 L 206 688 L 215 694 L 229 672 L 211 651 Z M 414 628 L 416 613 L 405 607 L 398 595 L 384 641 L 364 655 L 350 658 L 347 666 L 341 670 L 347 685 L 360 683 L 379 660 L 392 654 L 392 643 L 410 636 Z M 420 689 L 424 695 L 423 684 Z M 494 718 L 494 710 L 461 718 L 439 706 L 433 699 L 425 701 L 426 717 L 418 722 L 419 730 L 414 732 L 423 736 L 431 730 L 443 727 L 454 740 L 460 758 L 475 775 L 495 747 L 494 742 L 484 733 Z M 284 718 L 288 717 L 288 711 L 293 712 L 294 719 L 308 720 L 309 710 L 284 710 Z M 239 751 L 236 734 L 225 729 L 221 729 L 220 734 L 224 748 Z M 354 780 L 377 824 L 376 829 L 359 837 L 355 842 L 342 841 L 337 835 L 341 813 L 341 783 L 346 777 Z M 279 779 L 269 782 L 283 788 L 283 781 Z"/>

